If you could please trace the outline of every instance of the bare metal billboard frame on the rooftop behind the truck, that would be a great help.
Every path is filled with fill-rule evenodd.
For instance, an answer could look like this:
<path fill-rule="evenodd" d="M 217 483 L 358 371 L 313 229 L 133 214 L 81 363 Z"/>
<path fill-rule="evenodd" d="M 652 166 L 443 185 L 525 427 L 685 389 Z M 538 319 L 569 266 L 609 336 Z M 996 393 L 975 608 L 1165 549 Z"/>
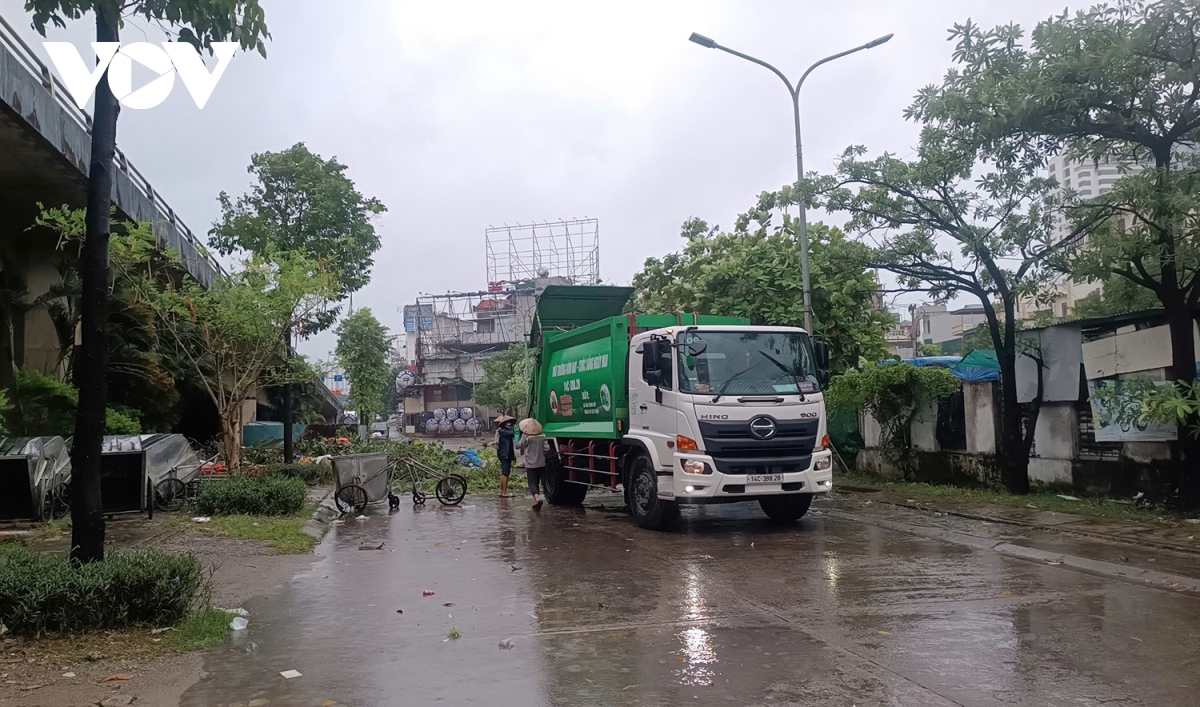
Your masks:
<path fill-rule="evenodd" d="M 493 226 L 486 244 L 490 288 L 538 277 L 565 277 L 575 284 L 600 278 L 596 218 Z"/>

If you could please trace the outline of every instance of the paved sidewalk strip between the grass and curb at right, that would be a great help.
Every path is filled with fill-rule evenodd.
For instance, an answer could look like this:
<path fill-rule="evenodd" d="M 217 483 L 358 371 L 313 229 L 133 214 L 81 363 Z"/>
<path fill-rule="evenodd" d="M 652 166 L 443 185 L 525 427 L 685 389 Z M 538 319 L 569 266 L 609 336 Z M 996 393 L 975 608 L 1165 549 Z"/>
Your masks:
<path fill-rule="evenodd" d="M 1183 522 L 1178 526 L 1168 523 L 1150 523 L 1136 521 L 1122 521 L 1110 519 L 1096 519 L 1068 513 L 1038 510 L 1032 508 L 1013 508 L 990 503 L 977 503 L 960 501 L 955 498 L 941 498 L 935 496 L 920 496 L 898 493 L 894 491 L 882 491 L 874 489 L 862 489 L 857 486 L 838 489 L 840 493 L 871 501 L 874 503 L 886 503 L 902 508 L 911 508 L 924 511 L 937 511 L 947 515 L 989 521 L 995 523 L 1009 523 L 1042 531 L 1056 531 L 1086 535 L 1100 540 L 1109 540 L 1122 544 L 1134 544 L 1174 552 L 1189 552 L 1200 555 L 1200 523 L 1193 525 Z"/>

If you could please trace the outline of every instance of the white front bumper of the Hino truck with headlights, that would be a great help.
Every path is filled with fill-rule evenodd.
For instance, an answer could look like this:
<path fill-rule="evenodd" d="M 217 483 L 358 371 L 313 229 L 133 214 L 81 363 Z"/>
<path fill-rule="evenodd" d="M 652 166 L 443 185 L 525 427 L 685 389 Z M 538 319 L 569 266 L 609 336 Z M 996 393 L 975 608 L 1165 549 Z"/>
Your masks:
<path fill-rule="evenodd" d="M 706 472 L 684 471 L 684 462 L 702 462 Z M 695 465 L 692 465 L 695 466 Z M 809 468 L 780 474 L 725 474 L 716 471 L 713 459 L 703 454 L 676 454 L 673 473 L 659 477 L 659 497 L 679 503 L 732 503 L 763 496 L 792 493 L 828 493 L 833 489 L 833 453 L 812 453 Z"/>

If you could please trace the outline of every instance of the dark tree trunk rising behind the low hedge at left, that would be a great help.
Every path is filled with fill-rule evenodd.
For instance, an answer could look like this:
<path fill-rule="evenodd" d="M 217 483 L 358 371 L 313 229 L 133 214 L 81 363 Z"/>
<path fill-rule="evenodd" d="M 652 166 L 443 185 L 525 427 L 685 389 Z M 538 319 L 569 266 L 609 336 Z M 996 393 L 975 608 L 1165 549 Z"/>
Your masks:
<path fill-rule="evenodd" d="M 96 41 L 116 42 L 116 14 L 100 6 Z M 74 443 L 71 447 L 71 559 L 77 563 L 104 558 L 104 509 L 100 497 L 100 450 L 104 436 L 108 389 L 108 228 L 113 205 L 113 156 L 120 106 L 108 85 L 108 72 L 96 85 L 96 109 L 88 166 L 88 212 L 79 253 L 82 342 L 74 365 L 79 389 Z"/>

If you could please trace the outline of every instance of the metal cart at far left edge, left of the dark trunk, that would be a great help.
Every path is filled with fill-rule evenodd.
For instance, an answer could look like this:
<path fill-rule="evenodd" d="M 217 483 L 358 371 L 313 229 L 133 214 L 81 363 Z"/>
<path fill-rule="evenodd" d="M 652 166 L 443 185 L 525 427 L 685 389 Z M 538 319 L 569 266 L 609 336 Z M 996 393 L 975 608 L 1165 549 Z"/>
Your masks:
<path fill-rule="evenodd" d="M 0 441 L 0 521 L 46 521 L 70 510 L 71 455 L 61 437 Z"/>

